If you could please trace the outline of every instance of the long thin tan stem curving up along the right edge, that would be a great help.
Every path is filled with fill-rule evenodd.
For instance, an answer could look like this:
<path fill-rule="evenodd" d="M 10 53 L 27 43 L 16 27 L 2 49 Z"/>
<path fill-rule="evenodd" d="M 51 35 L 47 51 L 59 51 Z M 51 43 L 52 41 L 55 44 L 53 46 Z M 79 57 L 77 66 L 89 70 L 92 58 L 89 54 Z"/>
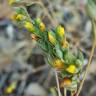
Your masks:
<path fill-rule="evenodd" d="M 92 45 L 92 49 L 91 49 L 91 53 L 90 53 L 90 57 L 89 57 L 89 61 L 88 61 L 88 64 L 87 64 L 87 67 L 86 67 L 86 71 L 84 73 L 84 77 L 83 77 L 83 80 L 81 81 L 81 84 L 80 84 L 80 87 L 78 89 L 78 92 L 77 92 L 77 95 L 76 96 L 79 96 L 81 90 L 82 90 L 82 87 L 83 87 L 83 84 L 84 84 L 84 81 L 86 79 L 86 76 L 88 74 L 88 71 L 89 71 L 89 68 L 90 68 L 90 65 L 91 65 L 91 61 L 92 61 L 92 57 L 93 57 L 93 54 L 94 54 L 94 50 L 95 50 L 95 41 L 93 42 L 93 45 Z"/>

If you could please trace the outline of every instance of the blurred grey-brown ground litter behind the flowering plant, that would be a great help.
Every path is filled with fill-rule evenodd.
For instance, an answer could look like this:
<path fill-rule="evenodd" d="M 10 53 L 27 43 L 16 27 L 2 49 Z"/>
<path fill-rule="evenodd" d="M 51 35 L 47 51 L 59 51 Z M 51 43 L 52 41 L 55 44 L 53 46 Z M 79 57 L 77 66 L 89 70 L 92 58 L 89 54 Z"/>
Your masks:
<path fill-rule="evenodd" d="M 26 7 L 32 19 L 40 17 L 47 28 L 65 27 L 72 51 L 79 48 L 84 54 L 85 69 L 92 47 L 86 0 L 23 1 L 34 3 Z M 11 21 L 13 13 L 7 0 L 0 0 L 0 96 L 56 96 L 53 70 L 30 34 Z M 80 96 L 96 96 L 96 50 Z"/>

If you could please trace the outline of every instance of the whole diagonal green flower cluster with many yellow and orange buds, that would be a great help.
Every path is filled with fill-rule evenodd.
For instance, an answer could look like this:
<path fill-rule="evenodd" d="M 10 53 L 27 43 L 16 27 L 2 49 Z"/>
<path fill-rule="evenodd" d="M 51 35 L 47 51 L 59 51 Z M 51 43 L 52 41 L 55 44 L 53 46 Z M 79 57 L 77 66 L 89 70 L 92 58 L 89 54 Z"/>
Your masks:
<path fill-rule="evenodd" d="M 77 54 L 71 52 L 64 27 L 59 25 L 49 30 L 39 18 L 31 21 L 23 8 L 16 8 L 16 13 L 11 18 L 37 41 L 49 64 L 58 71 L 60 86 L 75 90 L 82 72 L 83 55 L 80 51 Z"/>

